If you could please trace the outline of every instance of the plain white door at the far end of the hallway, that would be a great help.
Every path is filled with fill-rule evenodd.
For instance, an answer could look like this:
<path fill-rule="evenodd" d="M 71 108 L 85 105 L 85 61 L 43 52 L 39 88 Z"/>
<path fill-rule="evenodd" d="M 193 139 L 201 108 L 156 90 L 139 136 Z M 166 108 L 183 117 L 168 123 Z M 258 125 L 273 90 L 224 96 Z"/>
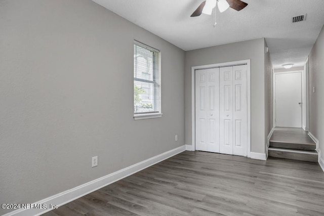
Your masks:
<path fill-rule="evenodd" d="M 302 127 L 302 73 L 275 73 L 275 126 Z"/>

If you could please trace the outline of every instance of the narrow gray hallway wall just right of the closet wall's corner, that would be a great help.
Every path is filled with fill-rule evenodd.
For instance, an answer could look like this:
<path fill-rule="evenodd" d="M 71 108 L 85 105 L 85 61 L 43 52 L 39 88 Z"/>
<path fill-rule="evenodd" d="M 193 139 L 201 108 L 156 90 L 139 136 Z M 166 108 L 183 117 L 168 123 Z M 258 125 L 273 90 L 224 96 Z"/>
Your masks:
<path fill-rule="evenodd" d="M 265 41 L 265 48 L 267 43 Z M 265 93 L 265 142 L 267 141 L 268 134 L 273 127 L 273 91 L 272 91 L 272 63 L 270 59 L 270 52 L 264 55 L 264 93 Z"/>

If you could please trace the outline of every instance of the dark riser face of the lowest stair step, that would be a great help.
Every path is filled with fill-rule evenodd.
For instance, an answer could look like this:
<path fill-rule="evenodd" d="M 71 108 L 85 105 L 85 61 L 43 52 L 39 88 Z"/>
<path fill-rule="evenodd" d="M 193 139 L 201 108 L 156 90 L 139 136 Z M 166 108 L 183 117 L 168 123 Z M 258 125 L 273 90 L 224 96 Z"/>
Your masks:
<path fill-rule="evenodd" d="M 317 154 L 304 154 L 304 153 L 296 153 L 296 152 L 284 152 L 284 151 L 268 151 L 270 157 L 277 158 L 285 158 L 285 159 L 293 159 L 293 160 L 301 160 L 308 162 L 317 162 L 318 155 Z"/>

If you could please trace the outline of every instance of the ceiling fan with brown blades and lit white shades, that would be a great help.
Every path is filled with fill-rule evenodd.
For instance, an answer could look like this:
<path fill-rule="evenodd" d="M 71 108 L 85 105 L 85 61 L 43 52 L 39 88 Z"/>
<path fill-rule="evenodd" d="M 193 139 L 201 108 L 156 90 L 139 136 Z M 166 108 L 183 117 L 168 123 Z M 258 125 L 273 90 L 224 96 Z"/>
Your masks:
<path fill-rule="evenodd" d="M 247 7 L 247 3 L 240 0 L 206 0 L 199 5 L 199 7 L 191 14 L 190 17 L 200 16 L 201 13 L 211 15 L 213 9 L 218 6 L 219 11 L 222 13 L 228 8 L 240 11 Z"/>

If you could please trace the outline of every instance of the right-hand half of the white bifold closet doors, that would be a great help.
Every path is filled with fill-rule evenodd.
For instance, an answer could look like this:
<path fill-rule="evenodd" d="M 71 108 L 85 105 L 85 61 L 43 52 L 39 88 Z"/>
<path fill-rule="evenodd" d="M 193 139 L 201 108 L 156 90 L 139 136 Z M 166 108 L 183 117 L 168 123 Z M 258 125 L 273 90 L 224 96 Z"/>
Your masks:
<path fill-rule="evenodd" d="M 247 65 L 220 68 L 220 153 L 247 156 Z"/>

